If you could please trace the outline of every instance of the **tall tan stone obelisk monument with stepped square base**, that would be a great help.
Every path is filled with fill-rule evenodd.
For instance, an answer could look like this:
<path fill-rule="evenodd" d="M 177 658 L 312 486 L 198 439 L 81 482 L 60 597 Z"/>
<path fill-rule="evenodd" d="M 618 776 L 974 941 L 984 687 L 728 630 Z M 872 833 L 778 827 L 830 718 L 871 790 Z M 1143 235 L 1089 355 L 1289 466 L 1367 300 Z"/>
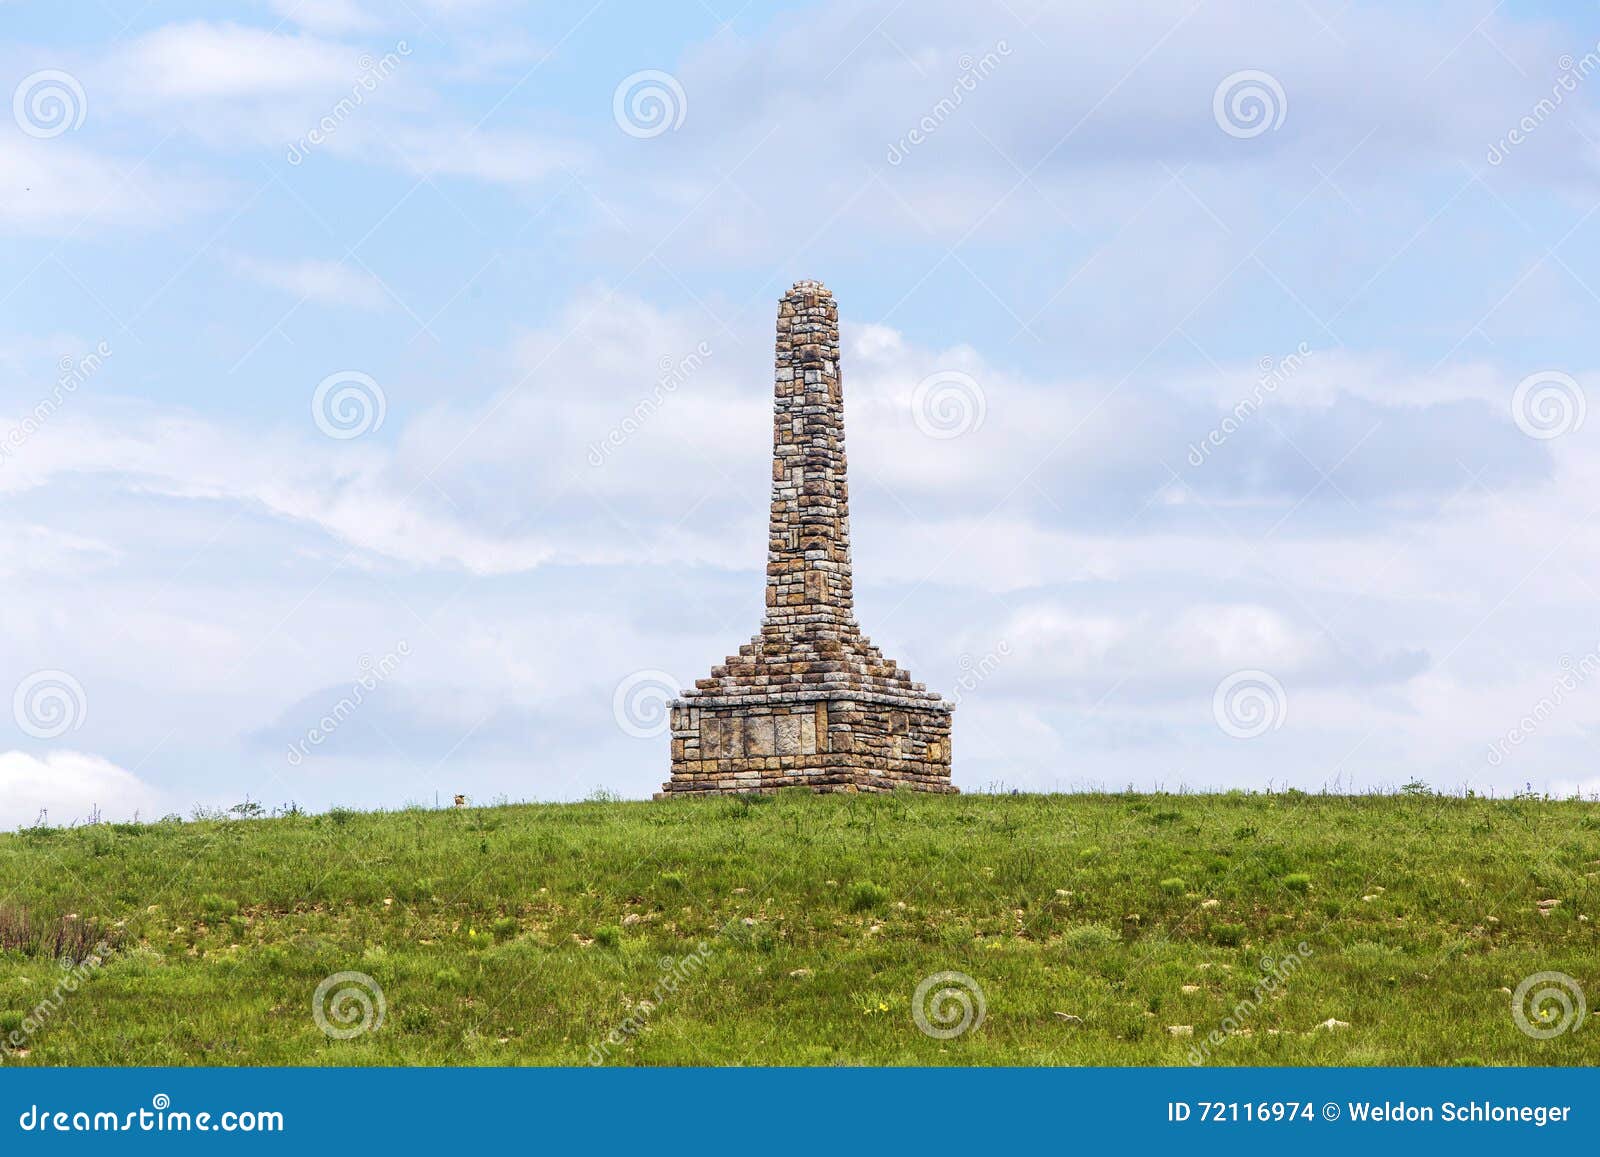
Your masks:
<path fill-rule="evenodd" d="M 778 304 L 773 512 L 762 631 L 672 703 L 656 799 L 950 784 L 952 706 L 854 619 L 838 307 L 821 282 Z"/>

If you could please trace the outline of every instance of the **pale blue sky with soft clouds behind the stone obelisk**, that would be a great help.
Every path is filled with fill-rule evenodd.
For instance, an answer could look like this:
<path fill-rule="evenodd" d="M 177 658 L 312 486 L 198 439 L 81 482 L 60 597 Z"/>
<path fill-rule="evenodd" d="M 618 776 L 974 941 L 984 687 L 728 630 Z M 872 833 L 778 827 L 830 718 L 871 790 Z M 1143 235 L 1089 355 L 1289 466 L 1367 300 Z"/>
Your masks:
<path fill-rule="evenodd" d="M 0 78 L 0 824 L 648 795 L 803 277 L 962 789 L 1600 789 L 1592 3 L 11 2 Z"/>

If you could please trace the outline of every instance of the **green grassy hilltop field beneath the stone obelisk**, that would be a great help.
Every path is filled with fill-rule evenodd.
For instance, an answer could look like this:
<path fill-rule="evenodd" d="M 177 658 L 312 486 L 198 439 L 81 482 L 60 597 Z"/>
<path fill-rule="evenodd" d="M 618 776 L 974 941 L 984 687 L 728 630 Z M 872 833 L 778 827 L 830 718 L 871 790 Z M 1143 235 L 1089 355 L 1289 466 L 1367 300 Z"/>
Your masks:
<path fill-rule="evenodd" d="M 1512 1015 L 1534 973 L 1600 1000 L 1579 802 L 784 794 L 27 829 L 0 835 L 0 1064 L 1600 1064 L 1594 1021 L 1530 1000 L 1534 1029 L 1570 1023 L 1536 1039 Z M 102 963 L 51 959 L 74 925 Z M 370 1027 L 323 1032 L 336 973 L 370 978 L 381 1024 L 362 987 Z M 925 1019 L 971 1023 L 918 1027 L 936 973 L 981 1023 L 946 979 Z M 363 1026 L 349 984 L 323 1000 L 339 1032 Z"/>

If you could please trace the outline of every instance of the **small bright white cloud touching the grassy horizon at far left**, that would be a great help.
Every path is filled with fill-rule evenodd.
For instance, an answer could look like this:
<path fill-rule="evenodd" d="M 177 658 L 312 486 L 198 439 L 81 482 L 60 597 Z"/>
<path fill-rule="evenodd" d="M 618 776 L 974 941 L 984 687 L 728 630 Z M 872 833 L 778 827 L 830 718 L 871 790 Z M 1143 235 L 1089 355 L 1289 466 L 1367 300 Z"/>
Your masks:
<path fill-rule="evenodd" d="M 0 752 L 0 827 L 35 823 L 48 811 L 51 824 L 86 819 L 154 819 L 157 792 L 134 775 L 99 755 L 53 751 L 43 759 L 24 751 Z"/>

